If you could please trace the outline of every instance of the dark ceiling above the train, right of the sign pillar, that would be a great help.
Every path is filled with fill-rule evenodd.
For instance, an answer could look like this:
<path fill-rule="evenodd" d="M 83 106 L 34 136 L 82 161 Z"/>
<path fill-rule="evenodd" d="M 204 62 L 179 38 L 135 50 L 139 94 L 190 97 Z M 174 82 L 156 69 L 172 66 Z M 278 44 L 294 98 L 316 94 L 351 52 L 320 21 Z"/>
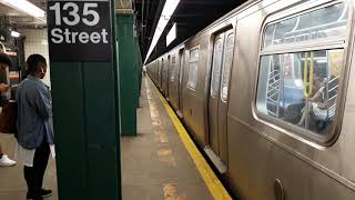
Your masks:
<path fill-rule="evenodd" d="M 180 0 L 175 12 L 165 27 L 149 61 L 194 36 L 213 21 L 246 1 L 247 0 Z M 142 59 L 145 59 L 164 3 L 165 0 L 134 0 Z M 174 22 L 176 22 L 178 27 L 176 39 L 166 47 L 166 34 Z"/>

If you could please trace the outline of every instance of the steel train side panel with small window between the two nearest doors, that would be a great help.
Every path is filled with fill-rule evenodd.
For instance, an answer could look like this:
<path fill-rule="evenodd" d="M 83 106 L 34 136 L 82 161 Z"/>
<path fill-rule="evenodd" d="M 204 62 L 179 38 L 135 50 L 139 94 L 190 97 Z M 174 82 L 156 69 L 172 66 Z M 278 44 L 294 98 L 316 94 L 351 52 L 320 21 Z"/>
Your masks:
<path fill-rule="evenodd" d="M 204 33 L 197 38 L 185 43 L 185 61 L 183 68 L 183 79 L 181 84 L 182 103 L 184 122 L 190 132 L 194 136 L 200 146 L 206 144 L 206 91 L 205 82 L 207 74 L 207 48 L 209 34 Z M 194 51 L 194 52 L 193 52 Z M 193 76 L 193 67 L 191 56 L 199 53 L 196 77 Z M 190 81 L 189 81 L 190 76 Z M 195 86 L 193 86 L 193 78 L 195 78 Z M 189 86 L 190 84 L 190 86 Z"/>

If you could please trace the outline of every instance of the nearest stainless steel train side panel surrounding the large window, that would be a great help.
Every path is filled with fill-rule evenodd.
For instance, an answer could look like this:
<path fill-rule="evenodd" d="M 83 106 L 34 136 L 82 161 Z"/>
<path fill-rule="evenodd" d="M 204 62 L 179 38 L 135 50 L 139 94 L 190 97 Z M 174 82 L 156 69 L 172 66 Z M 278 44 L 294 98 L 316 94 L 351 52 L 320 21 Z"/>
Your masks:
<path fill-rule="evenodd" d="M 229 181 L 242 199 L 272 200 L 275 199 L 275 188 L 276 191 L 283 188 L 287 200 L 355 199 L 352 156 L 355 152 L 354 134 L 349 131 L 355 129 L 355 124 L 349 122 L 355 116 L 352 109 L 354 87 L 353 90 L 346 90 L 342 132 L 332 146 L 318 144 L 267 120 L 261 120 L 253 111 L 255 82 L 258 81 L 261 31 L 266 16 L 287 7 L 302 10 L 321 6 L 322 2 L 329 1 L 308 1 L 294 6 L 290 4 L 292 1 L 278 1 L 237 23 L 237 53 L 234 58 L 230 97 L 232 103 L 227 118 Z M 352 48 L 353 44 L 349 46 Z M 354 64 L 348 67 L 354 76 Z M 346 80 L 347 76 L 344 77 Z M 354 79 L 349 81 L 349 86 L 353 86 Z"/>

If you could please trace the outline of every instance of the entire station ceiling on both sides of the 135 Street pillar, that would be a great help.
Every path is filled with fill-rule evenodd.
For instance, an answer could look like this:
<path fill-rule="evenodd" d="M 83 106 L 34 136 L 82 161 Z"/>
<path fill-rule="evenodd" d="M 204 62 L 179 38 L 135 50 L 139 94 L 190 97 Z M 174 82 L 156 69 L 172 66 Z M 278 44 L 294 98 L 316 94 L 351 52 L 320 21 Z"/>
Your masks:
<path fill-rule="evenodd" d="M 28 1 L 45 10 L 47 0 Z M 247 0 L 180 0 L 150 60 L 194 36 L 220 17 L 246 1 Z M 121 11 L 131 11 L 133 9 L 134 11 L 142 59 L 145 59 L 164 3 L 165 0 L 115 0 L 116 9 Z M 165 37 L 174 22 L 178 24 L 176 39 L 166 47 Z M 0 27 L 21 29 L 43 28 L 45 26 L 45 22 L 39 19 L 0 3 Z"/>

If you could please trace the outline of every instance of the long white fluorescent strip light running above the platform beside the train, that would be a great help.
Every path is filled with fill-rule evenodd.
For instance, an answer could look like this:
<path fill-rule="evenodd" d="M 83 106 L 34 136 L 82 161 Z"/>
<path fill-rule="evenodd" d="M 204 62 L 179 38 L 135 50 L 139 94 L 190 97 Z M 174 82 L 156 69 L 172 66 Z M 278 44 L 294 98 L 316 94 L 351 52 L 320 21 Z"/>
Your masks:
<path fill-rule="evenodd" d="M 151 46 L 149 47 L 144 63 L 146 62 L 148 58 L 151 56 L 154 47 L 156 46 L 160 37 L 162 36 L 171 16 L 174 13 L 178 4 L 179 4 L 180 0 L 166 0 L 162 14 L 160 16 L 155 32 L 154 32 L 154 37 L 153 40 L 151 42 Z"/>

